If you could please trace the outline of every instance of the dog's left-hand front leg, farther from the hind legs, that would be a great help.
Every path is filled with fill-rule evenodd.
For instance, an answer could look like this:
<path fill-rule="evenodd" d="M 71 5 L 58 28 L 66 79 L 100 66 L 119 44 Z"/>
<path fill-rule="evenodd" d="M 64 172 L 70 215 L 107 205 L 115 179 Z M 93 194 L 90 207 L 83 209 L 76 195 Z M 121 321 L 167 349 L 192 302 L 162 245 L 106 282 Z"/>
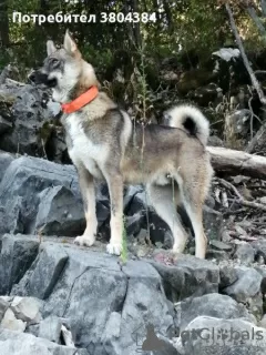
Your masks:
<path fill-rule="evenodd" d="M 91 246 L 95 242 L 98 230 L 95 186 L 93 176 L 83 165 L 78 168 L 78 172 L 85 210 L 86 227 L 82 235 L 76 236 L 74 243 Z"/>

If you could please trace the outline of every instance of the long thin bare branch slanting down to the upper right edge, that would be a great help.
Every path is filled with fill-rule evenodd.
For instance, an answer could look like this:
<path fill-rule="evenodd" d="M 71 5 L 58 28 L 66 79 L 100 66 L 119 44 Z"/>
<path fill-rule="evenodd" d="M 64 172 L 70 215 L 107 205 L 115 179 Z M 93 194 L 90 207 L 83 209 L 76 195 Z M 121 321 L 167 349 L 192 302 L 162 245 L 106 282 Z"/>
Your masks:
<path fill-rule="evenodd" d="M 232 10 L 231 10 L 229 4 L 226 3 L 226 4 L 225 4 L 225 8 L 226 8 L 226 11 L 227 11 L 227 13 L 228 13 L 228 16 L 229 16 L 231 28 L 232 28 L 232 31 L 233 31 L 233 33 L 234 33 L 234 36 L 235 36 L 236 43 L 237 43 L 237 45 L 238 45 L 238 48 L 239 48 L 239 51 L 241 51 L 241 54 L 242 54 L 242 58 L 243 58 L 244 65 L 246 67 L 246 70 L 247 70 L 247 72 L 248 72 L 249 77 L 250 77 L 250 81 L 252 81 L 252 83 L 253 83 L 253 87 L 256 89 L 260 102 L 262 102 L 263 104 L 266 104 L 266 98 L 265 98 L 265 95 L 264 95 L 264 92 L 263 92 L 263 90 L 262 90 L 262 88 L 260 88 L 260 84 L 259 84 L 257 78 L 255 77 L 254 71 L 252 70 L 252 67 L 250 67 L 250 64 L 249 64 L 249 62 L 248 62 L 248 59 L 247 59 L 247 57 L 246 57 L 246 52 L 245 52 L 245 49 L 244 49 L 244 45 L 243 45 L 241 36 L 239 36 L 239 33 L 238 33 L 238 30 L 237 30 L 237 28 L 236 28 L 235 19 L 234 19 L 234 16 L 233 16 L 233 12 L 232 12 Z"/>

